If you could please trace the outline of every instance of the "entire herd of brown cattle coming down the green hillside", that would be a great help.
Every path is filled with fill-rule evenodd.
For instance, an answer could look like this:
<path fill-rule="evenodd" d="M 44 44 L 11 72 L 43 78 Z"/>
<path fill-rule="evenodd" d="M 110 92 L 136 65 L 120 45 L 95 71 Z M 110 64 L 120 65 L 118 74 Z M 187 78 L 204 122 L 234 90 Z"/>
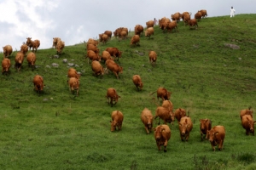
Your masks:
<path fill-rule="evenodd" d="M 183 20 L 184 25 L 198 26 L 197 20 L 201 20 L 202 17 L 207 16 L 207 10 L 198 11 L 195 14 L 195 19 L 190 19 L 191 13 L 184 12 L 183 14 L 176 13 L 171 15 L 171 19 L 166 17 L 160 19 L 159 27 L 163 31 L 172 31 L 173 29 L 177 30 L 177 22 L 179 20 Z M 154 20 L 149 20 L 146 22 L 146 30 L 145 37 L 149 37 L 154 35 Z M 131 37 L 131 45 L 138 44 L 140 42 L 140 37 L 142 36 L 142 32 L 144 31 L 143 26 L 137 25 L 135 26 L 134 33 L 135 35 Z M 125 27 L 119 27 L 115 31 L 113 31 L 114 37 L 119 37 L 120 39 L 125 39 L 128 36 L 128 29 Z M 91 60 L 91 69 L 94 72 L 95 76 L 103 75 L 104 73 L 112 71 L 113 74 L 119 79 L 119 73 L 122 73 L 123 67 L 118 65 L 114 60 L 119 60 L 122 52 L 119 51 L 118 48 L 106 48 L 102 51 L 102 55 L 100 55 L 100 50 L 97 48 L 99 42 L 105 44 L 112 37 L 112 31 L 105 31 L 102 34 L 99 34 L 99 41 L 96 41 L 90 38 L 86 44 L 87 54 L 85 58 Z M 20 71 L 23 60 L 26 60 L 29 66 L 34 69 L 36 62 L 36 52 L 38 47 L 40 46 L 39 40 L 32 41 L 31 37 L 26 38 L 26 43 L 24 43 L 20 47 L 20 51 L 15 56 L 15 69 Z M 65 42 L 61 41 L 61 38 L 54 37 L 53 38 L 53 48 L 56 48 L 57 54 L 62 53 L 62 49 L 65 47 Z M 32 51 L 28 52 L 28 48 Z M 3 60 L 2 60 L 2 74 L 9 72 L 9 68 L 11 66 L 10 59 L 8 58 L 10 54 L 12 54 L 13 49 L 10 45 L 6 45 L 3 47 Z M 149 62 L 151 64 L 156 62 L 157 54 L 154 51 L 150 51 L 148 54 Z M 104 68 L 100 61 L 103 60 L 106 67 Z M 76 94 L 79 95 L 79 79 L 80 74 L 74 68 L 69 68 L 67 71 L 68 86 L 71 93 L 76 91 Z M 43 77 L 36 75 L 33 78 L 34 89 L 40 94 L 41 91 L 44 90 L 44 79 Z M 132 82 L 136 86 L 137 90 L 143 89 L 143 82 L 139 75 L 134 75 L 132 77 Z M 189 140 L 189 133 L 193 128 L 193 122 L 191 118 L 186 114 L 186 111 L 182 108 L 178 108 L 173 112 L 173 105 L 170 101 L 171 92 L 167 91 L 166 88 L 158 88 L 154 93 L 157 94 L 157 98 L 162 99 L 162 105 L 157 105 L 157 109 L 155 111 L 155 116 L 153 116 L 152 112 L 147 108 L 144 108 L 141 114 L 141 121 L 145 127 L 146 133 L 150 133 L 154 130 L 154 139 L 156 141 L 157 147 L 160 150 L 161 145 L 164 145 L 164 151 L 166 152 L 166 146 L 168 140 L 171 139 L 171 129 L 167 125 L 167 123 L 172 123 L 177 119 L 180 138 L 182 141 Z M 152 93 L 152 94 L 154 94 Z M 152 95 L 151 94 L 151 95 Z M 116 105 L 120 96 L 117 94 L 117 91 L 114 88 L 108 88 L 107 95 L 108 105 Z M 241 125 L 246 129 L 246 134 L 253 133 L 254 135 L 254 124 L 253 121 L 253 111 L 251 108 L 246 110 L 242 110 L 240 113 L 241 116 Z M 159 117 L 159 126 L 153 127 L 153 121 Z M 124 120 L 124 115 L 121 111 L 113 111 L 111 115 L 111 131 L 113 132 L 116 129 L 121 129 L 122 123 Z M 163 120 L 164 124 L 160 125 L 160 119 Z M 212 122 L 210 119 L 201 119 L 201 140 L 208 139 L 212 145 L 212 150 L 215 150 L 215 146 L 218 145 L 218 150 L 223 149 L 224 138 L 225 138 L 225 128 L 224 126 L 214 126 L 212 127 Z M 205 135 L 205 137 L 204 137 Z"/>

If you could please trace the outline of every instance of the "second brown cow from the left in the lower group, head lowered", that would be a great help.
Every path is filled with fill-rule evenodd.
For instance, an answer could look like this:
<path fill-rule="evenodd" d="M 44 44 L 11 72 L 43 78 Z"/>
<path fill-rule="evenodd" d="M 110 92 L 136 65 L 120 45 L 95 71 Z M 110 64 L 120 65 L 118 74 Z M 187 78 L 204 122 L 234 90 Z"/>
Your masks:
<path fill-rule="evenodd" d="M 149 134 L 153 126 L 153 115 L 151 111 L 148 110 L 148 108 L 144 108 L 144 110 L 142 111 L 141 120 L 146 129 L 146 132 Z"/>

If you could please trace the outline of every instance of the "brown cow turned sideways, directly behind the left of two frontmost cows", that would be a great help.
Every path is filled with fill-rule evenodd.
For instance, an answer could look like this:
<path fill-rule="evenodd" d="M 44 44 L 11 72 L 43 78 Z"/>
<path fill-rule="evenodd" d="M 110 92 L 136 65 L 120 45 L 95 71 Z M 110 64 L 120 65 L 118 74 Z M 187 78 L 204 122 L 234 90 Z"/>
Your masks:
<path fill-rule="evenodd" d="M 169 123 L 172 123 L 172 125 L 175 120 L 174 114 L 172 113 L 172 111 L 169 111 L 168 109 L 166 109 L 163 106 L 158 106 L 156 108 L 154 119 L 156 119 L 157 117 L 159 117 L 158 124 L 160 124 L 160 119 L 162 119 L 164 121 L 164 124 L 169 122 Z"/>

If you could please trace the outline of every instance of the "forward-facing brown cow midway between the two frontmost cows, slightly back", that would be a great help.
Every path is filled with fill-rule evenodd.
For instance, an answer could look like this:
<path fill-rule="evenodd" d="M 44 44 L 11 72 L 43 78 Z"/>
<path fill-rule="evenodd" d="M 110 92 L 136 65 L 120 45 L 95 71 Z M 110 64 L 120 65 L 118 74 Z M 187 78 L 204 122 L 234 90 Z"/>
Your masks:
<path fill-rule="evenodd" d="M 189 116 L 183 116 L 179 122 L 179 133 L 180 133 L 180 139 L 182 141 L 189 140 L 189 133 L 191 132 L 192 128 L 193 128 L 193 123 L 191 121 L 191 118 Z"/>

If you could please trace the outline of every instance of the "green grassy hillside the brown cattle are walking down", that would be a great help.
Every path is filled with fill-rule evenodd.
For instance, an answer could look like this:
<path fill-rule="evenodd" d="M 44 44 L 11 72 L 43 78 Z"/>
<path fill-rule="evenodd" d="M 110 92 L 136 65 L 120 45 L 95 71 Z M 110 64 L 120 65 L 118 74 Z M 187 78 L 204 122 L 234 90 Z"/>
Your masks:
<path fill-rule="evenodd" d="M 256 14 L 212 17 L 201 20 L 197 30 L 179 22 L 179 31 L 172 33 L 155 26 L 151 39 L 143 36 L 133 47 L 133 32 L 122 41 L 113 37 L 99 48 L 123 52 L 119 80 L 112 72 L 92 75 L 84 43 L 65 47 L 60 58 L 53 48 L 39 49 L 34 71 L 25 60 L 20 72 L 11 67 L 9 75 L 0 76 L 1 169 L 255 169 L 256 139 L 245 134 L 239 117 L 242 109 L 255 107 L 255 19 Z M 158 54 L 154 66 L 148 62 L 150 50 Z M 9 57 L 12 65 L 16 53 Z M 63 59 L 82 73 L 78 97 L 69 92 Z M 37 74 L 46 85 L 40 95 L 33 91 Z M 142 77 L 143 91 L 132 83 L 134 74 Z M 157 150 L 154 134 L 147 135 L 140 120 L 145 107 L 154 114 L 156 95 L 149 94 L 159 87 L 172 92 L 174 109 L 189 111 L 194 123 L 188 142 L 181 141 L 177 121 L 169 124 L 166 153 Z M 105 97 L 108 88 L 121 96 L 113 107 Z M 125 118 L 122 130 L 111 133 L 115 110 Z M 213 152 L 208 141 L 201 141 L 201 118 L 225 127 L 224 150 Z"/>

